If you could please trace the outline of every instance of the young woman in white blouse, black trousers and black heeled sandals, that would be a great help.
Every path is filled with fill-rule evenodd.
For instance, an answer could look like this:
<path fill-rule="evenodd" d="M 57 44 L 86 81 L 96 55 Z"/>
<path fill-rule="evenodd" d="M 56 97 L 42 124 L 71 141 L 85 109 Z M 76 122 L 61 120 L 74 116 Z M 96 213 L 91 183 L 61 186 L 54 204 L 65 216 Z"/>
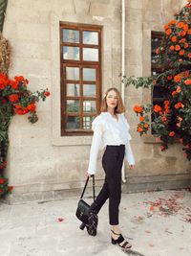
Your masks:
<path fill-rule="evenodd" d="M 133 169 L 135 159 L 130 146 L 131 136 L 129 124 L 124 116 L 125 107 L 117 88 L 107 90 L 101 104 L 100 114 L 92 123 L 94 136 L 90 151 L 87 175 L 96 174 L 96 160 L 100 149 L 106 147 L 102 166 L 105 172 L 105 182 L 92 209 L 98 213 L 109 198 L 109 222 L 111 224 L 112 244 L 118 244 L 123 249 L 132 245 L 120 234 L 118 225 L 118 206 L 121 198 L 121 168 L 124 157 Z"/>

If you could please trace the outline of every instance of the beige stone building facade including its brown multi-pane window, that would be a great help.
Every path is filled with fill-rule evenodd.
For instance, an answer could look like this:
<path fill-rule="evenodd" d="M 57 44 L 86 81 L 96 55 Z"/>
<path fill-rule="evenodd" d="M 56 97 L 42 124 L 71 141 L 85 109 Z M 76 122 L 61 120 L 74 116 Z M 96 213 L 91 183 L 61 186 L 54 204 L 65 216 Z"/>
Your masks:
<path fill-rule="evenodd" d="M 186 4 L 182 0 L 125 1 L 125 74 L 149 76 L 152 35 Z M 49 88 L 35 125 L 15 116 L 7 175 L 11 202 L 63 198 L 83 186 L 101 97 L 121 90 L 121 0 L 9 0 L 3 35 L 12 47 L 10 77 L 32 90 Z M 153 34 L 154 33 L 154 34 Z M 134 105 L 152 102 L 149 89 L 125 88 L 135 170 L 125 162 L 123 191 L 185 187 L 190 163 L 180 145 L 159 150 L 152 134 L 139 137 Z M 102 183 L 100 151 L 96 185 Z M 74 195 L 74 194 L 73 194 Z"/>

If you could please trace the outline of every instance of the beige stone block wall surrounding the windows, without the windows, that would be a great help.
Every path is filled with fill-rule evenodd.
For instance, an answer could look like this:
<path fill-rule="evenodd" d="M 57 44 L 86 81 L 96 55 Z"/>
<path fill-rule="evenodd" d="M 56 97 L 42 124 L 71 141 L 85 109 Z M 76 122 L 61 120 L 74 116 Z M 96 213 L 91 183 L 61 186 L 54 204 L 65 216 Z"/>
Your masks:
<path fill-rule="evenodd" d="M 161 31 L 162 24 L 184 2 L 126 1 L 127 75 L 150 74 L 150 32 Z M 60 137 L 59 21 L 103 26 L 102 91 L 110 86 L 120 89 L 120 0 L 9 1 L 3 34 L 12 47 L 10 76 L 23 75 L 30 80 L 32 90 L 49 87 L 52 93 L 46 103 L 38 104 L 39 121 L 35 125 L 20 116 L 11 122 L 8 166 L 10 183 L 14 186 L 11 202 L 63 198 L 84 184 L 92 137 Z M 166 178 L 169 186 L 165 183 L 163 188 L 185 185 L 184 181 L 190 178 L 190 164 L 182 158 L 180 147 L 161 152 L 159 145 L 146 143 L 136 132 L 137 118 L 132 107 L 148 101 L 150 92 L 130 87 L 125 96 L 137 167 L 130 172 L 125 163 L 124 191 L 155 187 Z M 97 185 L 103 177 L 101 154 Z"/>

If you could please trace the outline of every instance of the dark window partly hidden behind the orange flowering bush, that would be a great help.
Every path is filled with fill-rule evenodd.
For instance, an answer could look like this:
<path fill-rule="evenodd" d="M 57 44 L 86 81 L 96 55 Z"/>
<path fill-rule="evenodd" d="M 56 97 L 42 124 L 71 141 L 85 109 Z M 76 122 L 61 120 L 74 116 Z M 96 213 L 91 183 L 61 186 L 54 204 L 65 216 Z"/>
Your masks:
<path fill-rule="evenodd" d="M 158 75 L 162 72 L 162 67 L 157 62 L 156 50 L 159 48 L 163 38 L 162 32 L 151 32 L 151 74 Z M 152 91 L 153 105 L 162 105 L 165 101 L 164 88 L 159 83 L 156 83 Z M 152 116 L 153 121 L 154 116 Z M 152 132 L 153 133 L 153 132 Z"/>

